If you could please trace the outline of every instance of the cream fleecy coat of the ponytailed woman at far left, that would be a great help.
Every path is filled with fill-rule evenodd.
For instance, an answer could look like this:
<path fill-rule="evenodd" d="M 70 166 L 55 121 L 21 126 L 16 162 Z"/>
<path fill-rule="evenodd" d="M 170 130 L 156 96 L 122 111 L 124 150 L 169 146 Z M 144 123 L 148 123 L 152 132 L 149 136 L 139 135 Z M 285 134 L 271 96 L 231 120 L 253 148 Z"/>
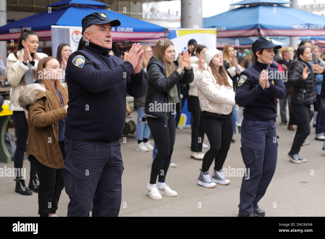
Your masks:
<path fill-rule="evenodd" d="M 39 59 L 47 57 L 45 53 L 36 53 Z M 24 49 L 17 51 L 18 59 L 15 57 L 14 53 L 10 53 L 7 57 L 6 68 L 7 68 L 7 81 L 12 86 L 10 89 L 10 110 L 13 111 L 24 111 L 23 108 L 19 106 L 18 97 L 21 92 L 21 78 L 24 74 L 29 70 L 28 66 L 22 63 L 22 57 L 24 55 Z M 27 61 L 28 63 L 29 61 Z M 37 70 L 38 60 L 34 60 L 34 65 L 32 66 L 32 70 Z"/>

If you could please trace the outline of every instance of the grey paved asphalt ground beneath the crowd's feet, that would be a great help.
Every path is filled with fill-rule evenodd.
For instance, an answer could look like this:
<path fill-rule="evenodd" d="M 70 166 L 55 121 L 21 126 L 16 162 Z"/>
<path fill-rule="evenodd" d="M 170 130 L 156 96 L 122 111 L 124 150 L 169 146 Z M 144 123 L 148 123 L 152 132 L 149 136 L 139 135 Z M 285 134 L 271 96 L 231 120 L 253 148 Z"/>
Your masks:
<path fill-rule="evenodd" d="M 279 111 L 278 111 L 279 112 Z M 131 114 L 136 121 L 137 113 Z M 129 119 L 127 119 L 128 121 Z M 293 164 L 289 161 L 287 153 L 292 144 L 293 131 L 288 131 L 287 126 L 279 126 L 277 118 L 278 161 L 275 175 L 259 202 L 259 207 L 266 211 L 266 216 L 324 216 L 325 215 L 325 156 L 321 148 L 323 142 L 316 141 L 315 128 L 308 136 L 310 145 L 303 146 L 300 154 L 308 159 L 304 164 Z M 296 126 L 294 126 L 296 127 Z M 12 132 L 11 132 L 12 133 Z M 200 173 L 201 161 L 190 159 L 190 129 L 177 129 L 172 161 L 177 164 L 169 168 L 166 183 L 177 191 L 178 196 L 162 196 L 162 200 L 152 200 L 146 195 L 146 185 L 152 163 L 152 152 L 141 153 L 135 150 L 136 140 L 128 139 L 121 142 L 124 162 L 122 177 L 122 205 L 119 216 L 227 216 L 238 215 L 239 193 L 241 177 L 227 177 L 229 185 L 219 185 L 215 188 L 203 188 L 197 184 Z M 227 155 L 224 168 L 243 168 L 244 164 L 240 153 L 240 134 L 234 135 L 236 143 L 232 143 Z M 208 144 L 207 138 L 204 140 Z M 153 140 L 151 141 L 153 145 Z M 204 152 L 207 149 L 203 150 Z M 94 152 L 96 153 L 96 152 Z M 13 167 L 10 164 L 0 163 Z M 29 182 L 30 164 L 24 160 Z M 210 168 L 210 175 L 213 166 Z M 0 178 L 0 216 L 31 216 L 37 217 L 37 193 L 23 196 L 15 193 L 13 178 Z M 69 197 L 62 190 L 57 215 L 65 217 Z"/>

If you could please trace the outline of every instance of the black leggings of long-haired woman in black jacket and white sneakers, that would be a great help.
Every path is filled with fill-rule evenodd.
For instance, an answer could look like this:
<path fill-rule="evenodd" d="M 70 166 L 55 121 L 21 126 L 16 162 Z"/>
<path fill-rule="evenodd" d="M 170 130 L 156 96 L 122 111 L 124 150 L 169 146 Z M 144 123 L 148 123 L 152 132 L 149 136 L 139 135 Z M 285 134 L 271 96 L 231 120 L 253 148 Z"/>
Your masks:
<path fill-rule="evenodd" d="M 147 121 L 158 149 L 151 166 L 150 183 L 155 184 L 158 175 L 158 181 L 165 182 L 175 143 L 174 114 L 168 112 L 168 121 L 164 118 L 154 117 L 147 117 Z"/>

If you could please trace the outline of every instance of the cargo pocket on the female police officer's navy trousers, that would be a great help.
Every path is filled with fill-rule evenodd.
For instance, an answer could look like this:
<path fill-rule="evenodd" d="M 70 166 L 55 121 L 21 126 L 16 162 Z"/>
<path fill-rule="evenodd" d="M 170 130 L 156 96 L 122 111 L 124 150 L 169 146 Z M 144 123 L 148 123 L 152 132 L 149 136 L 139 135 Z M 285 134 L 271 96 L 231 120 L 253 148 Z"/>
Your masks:
<path fill-rule="evenodd" d="M 241 155 L 246 166 L 255 165 L 257 161 L 262 159 L 263 144 L 250 141 L 241 137 Z"/>

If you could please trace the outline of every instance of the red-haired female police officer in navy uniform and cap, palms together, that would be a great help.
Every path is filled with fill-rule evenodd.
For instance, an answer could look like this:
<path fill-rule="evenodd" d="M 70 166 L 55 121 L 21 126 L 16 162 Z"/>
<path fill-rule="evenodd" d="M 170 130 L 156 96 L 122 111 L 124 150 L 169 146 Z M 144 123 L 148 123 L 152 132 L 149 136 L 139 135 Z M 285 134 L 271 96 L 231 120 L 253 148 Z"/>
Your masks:
<path fill-rule="evenodd" d="M 240 74 L 235 100 L 244 107 L 241 124 L 241 155 L 249 177 L 240 188 L 239 215 L 264 217 L 257 206 L 270 183 L 277 161 L 276 98 L 286 93 L 282 75 L 272 63 L 274 45 L 269 38 L 258 38 L 252 45 L 255 64 Z"/>

